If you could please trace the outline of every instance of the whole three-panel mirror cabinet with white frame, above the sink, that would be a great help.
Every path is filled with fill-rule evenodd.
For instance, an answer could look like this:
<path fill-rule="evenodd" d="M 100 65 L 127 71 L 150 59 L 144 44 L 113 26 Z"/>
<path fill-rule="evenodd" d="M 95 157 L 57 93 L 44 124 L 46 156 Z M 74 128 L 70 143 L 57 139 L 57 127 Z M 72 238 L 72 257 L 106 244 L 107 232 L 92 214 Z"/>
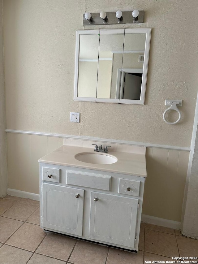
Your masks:
<path fill-rule="evenodd" d="M 76 32 L 74 100 L 144 104 L 150 28 Z"/>

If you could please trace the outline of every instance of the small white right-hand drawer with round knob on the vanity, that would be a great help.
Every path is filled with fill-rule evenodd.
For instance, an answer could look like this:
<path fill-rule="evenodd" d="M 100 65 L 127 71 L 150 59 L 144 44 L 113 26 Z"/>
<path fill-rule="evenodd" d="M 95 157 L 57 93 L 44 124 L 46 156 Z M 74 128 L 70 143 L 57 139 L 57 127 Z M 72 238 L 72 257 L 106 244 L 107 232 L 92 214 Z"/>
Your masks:
<path fill-rule="evenodd" d="M 119 178 L 118 193 L 139 196 L 140 181 Z"/>

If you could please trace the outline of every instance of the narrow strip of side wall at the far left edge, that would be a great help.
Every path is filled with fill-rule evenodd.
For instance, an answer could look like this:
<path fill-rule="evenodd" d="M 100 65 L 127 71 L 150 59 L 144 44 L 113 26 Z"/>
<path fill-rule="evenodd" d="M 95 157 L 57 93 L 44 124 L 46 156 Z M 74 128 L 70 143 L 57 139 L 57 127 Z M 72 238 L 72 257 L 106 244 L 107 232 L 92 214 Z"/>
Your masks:
<path fill-rule="evenodd" d="M 0 0 L 0 197 L 7 194 L 5 86 L 3 71 L 2 0 Z"/>

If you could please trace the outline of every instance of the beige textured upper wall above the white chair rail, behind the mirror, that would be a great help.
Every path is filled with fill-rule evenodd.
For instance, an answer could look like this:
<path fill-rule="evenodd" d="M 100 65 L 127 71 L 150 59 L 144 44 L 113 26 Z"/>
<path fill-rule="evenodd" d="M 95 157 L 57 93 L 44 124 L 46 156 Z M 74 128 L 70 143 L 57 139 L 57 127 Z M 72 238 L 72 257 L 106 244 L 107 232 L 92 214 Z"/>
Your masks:
<path fill-rule="evenodd" d="M 190 146 L 198 1 L 6 0 L 3 5 L 7 128 Z M 125 27 L 152 28 L 145 105 L 74 102 L 75 30 L 84 29 L 83 13 L 134 8 L 145 10 L 145 23 Z M 93 28 L 99 27 L 85 27 Z M 179 124 L 163 121 L 165 99 L 183 100 Z M 80 123 L 69 122 L 70 111 L 81 112 Z"/>

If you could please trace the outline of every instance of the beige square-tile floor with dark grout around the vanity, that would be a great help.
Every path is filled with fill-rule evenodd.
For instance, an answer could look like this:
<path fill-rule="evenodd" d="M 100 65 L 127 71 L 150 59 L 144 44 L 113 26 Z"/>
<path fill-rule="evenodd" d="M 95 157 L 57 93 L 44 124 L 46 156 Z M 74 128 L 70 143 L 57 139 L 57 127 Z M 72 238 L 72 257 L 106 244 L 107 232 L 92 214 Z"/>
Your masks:
<path fill-rule="evenodd" d="M 141 224 L 138 254 L 43 232 L 39 202 L 0 198 L 0 264 L 143 264 L 198 257 L 198 240 L 179 230 Z"/>

